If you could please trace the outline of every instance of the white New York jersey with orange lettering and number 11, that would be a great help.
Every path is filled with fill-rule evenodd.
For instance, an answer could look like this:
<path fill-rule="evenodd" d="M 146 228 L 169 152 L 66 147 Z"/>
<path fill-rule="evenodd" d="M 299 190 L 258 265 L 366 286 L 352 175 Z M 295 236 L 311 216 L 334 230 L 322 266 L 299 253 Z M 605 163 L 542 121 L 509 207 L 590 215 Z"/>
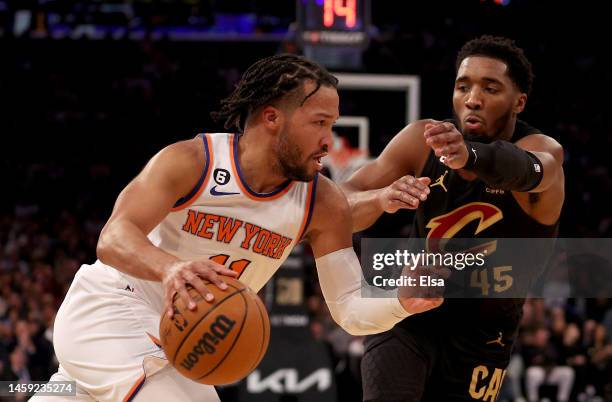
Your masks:
<path fill-rule="evenodd" d="M 151 242 L 183 260 L 212 259 L 259 291 L 300 240 L 312 216 L 317 178 L 287 181 L 260 194 L 242 179 L 239 136 L 201 134 L 206 166 L 196 187 L 149 234 Z M 160 313 L 160 282 L 120 273 Z"/>

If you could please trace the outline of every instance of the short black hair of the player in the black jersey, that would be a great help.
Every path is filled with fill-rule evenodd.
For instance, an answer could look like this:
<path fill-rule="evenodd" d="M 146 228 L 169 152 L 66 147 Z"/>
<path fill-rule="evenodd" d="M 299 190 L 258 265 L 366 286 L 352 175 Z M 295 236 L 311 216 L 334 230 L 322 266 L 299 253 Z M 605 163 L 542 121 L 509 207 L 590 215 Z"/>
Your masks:
<path fill-rule="evenodd" d="M 485 56 L 498 59 L 508 66 L 508 76 L 521 90 L 529 95 L 533 83 L 533 70 L 523 49 L 516 46 L 513 40 L 501 36 L 484 35 L 467 42 L 457 55 L 455 71 L 466 57 Z"/>

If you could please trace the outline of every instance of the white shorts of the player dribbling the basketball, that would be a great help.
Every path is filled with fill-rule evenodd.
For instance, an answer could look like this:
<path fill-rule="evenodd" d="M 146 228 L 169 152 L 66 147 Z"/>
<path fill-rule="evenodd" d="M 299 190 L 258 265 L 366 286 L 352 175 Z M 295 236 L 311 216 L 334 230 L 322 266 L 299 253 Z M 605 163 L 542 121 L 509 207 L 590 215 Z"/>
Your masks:
<path fill-rule="evenodd" d="M 83 265 L 75 275 L 53 330 L 60 362 L 53 379 L 77 382 L 79 397 L 67 400 L 218 401 L 214 387 L 168 365 L 155 343 L 160 313 L 128 285 L 100 262 Z"/>

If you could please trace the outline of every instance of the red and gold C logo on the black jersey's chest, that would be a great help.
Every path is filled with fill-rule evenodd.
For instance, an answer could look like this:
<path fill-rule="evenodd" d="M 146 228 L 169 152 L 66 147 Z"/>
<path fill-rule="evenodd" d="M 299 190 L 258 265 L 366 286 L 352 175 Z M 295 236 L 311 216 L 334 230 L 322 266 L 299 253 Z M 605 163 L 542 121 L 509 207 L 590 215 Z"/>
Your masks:
<path fill-rule="evenodd" d="M 427 234 L 427 249 L 433 252 L 441 251 L 443 245 L 440 239 L 450 239 L 472 221 L 479 221 L 474 232 L 476 235 L 499 222 L 503 217 L 501 209 L 485 202 L 470 202 L 462 205 L 429 221 L 426 226 L 430 229 Z"/>

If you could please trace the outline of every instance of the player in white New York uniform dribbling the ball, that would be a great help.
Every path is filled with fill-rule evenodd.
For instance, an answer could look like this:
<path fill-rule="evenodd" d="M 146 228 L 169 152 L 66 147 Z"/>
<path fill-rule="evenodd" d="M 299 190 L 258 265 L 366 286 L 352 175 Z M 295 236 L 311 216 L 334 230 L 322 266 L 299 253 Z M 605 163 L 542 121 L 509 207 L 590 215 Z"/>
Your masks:
<path fill-rule="evenodd" d="M 343 193 L 319 177 L 338 118 L 337 80 L 304 58 L 252 65 L 216 118 L 238 134 L 203 134 L 168 146 L 122 191 L 77 273 L 54 327 L 52 380 L 77 396 L 36 402 L 218 401 L 182 377 L 158 346 L 161 314 L 186 286 L 208 301 L 223 275 L 258 291 L 301 240 L 310 242 L 334 319 L 354 334 L 388 330 L 441 299 L 362 299 Z M 178 200 L 178 201 L 177 201 Z"/>

